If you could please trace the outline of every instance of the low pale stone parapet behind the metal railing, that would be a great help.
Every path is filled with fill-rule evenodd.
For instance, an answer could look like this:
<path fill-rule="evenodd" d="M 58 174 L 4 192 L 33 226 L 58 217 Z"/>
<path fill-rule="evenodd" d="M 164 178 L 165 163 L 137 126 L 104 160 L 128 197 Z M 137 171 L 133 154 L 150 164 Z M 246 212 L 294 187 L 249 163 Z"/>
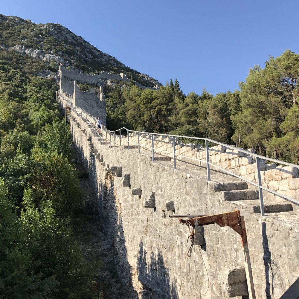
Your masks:
<path fill-rule="evenodd" d="M 126 137 L 124 136 L 126 142 Z M 138 144 L 138 137 L 130 133 L 131 144 Z M 125 143 L 124 143 L 125 144 Z M 144 148 L 152 147 L 151 135 L 141 135 L 140 144 Z M 156 136 L 154 141 L 155 152 L 161 155 L 173 157 L 172 138 L 167 136 Z M 237 174 L 242 178 L 257 183 L 257 167 L 255 157 L 250 155 L 254 149 L 248 149 L 248 155 L 237 149 L 225 148 L 222 145 L 209 148 L 209 161 L 218 167 Z M 176 139 L 177 159 L 206 167 L 206 150 L 200 144 L 183 144 Z M 198 159 L 201 161 L 195 161 Z M 213 169 L 213 167 L 211 167 Z M 266 160 L 260 161 L 262 185 L 270 190 L 277 191 L 294 199 L 299 199 L 299 172 L 298 168 L 283 166 L 275 163 L 267 164 Z M 280 200 L 280 197 L 269 192 L 263 192 L 265 199 Z"/>

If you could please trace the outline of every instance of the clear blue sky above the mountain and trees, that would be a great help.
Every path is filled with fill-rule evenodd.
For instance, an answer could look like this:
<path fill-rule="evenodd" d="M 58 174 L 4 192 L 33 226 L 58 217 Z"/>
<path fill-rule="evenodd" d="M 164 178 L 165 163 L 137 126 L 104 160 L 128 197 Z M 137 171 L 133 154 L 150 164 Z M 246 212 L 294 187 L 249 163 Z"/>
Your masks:
<path fill-rule="evenodd" d="M 125 65 L 182 91 L 234 91 L 255 64 L 299 52 L 299 1 L 2 0 L 0 13 L 60 23 Z"/>

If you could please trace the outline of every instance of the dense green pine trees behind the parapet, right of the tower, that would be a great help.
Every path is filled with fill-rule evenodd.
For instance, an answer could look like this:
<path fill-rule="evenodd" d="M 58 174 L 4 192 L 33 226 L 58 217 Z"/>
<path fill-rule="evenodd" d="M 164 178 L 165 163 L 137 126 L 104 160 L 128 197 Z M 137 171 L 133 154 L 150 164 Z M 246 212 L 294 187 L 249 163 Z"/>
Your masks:
<path fill-rule="evenodd" d="M 233 93 L 185 96 L 172 79 L 158 91 L 119 87 L 106 96 L 108 127 L 210 138 L 298 163 L 298 77 L 299 54 L 286 50 Z"/>

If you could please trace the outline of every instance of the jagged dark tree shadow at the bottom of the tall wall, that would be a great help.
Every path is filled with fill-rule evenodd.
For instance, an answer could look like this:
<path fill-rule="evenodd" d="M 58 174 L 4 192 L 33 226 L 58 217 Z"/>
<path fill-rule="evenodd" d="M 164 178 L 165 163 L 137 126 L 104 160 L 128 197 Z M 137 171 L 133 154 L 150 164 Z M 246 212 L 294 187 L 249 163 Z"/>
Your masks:
<path fill-rule="evenodd" d="M 176 283 L 170 283 L 169 271 L 165 267 L 161 252 L 147 253 L 141 240 L 137 260 L 138 280 L 147 288 L 142 293 L 143 299 L 177 299 Z M 155 291 L 153 291 L 155 290 Z"/>

